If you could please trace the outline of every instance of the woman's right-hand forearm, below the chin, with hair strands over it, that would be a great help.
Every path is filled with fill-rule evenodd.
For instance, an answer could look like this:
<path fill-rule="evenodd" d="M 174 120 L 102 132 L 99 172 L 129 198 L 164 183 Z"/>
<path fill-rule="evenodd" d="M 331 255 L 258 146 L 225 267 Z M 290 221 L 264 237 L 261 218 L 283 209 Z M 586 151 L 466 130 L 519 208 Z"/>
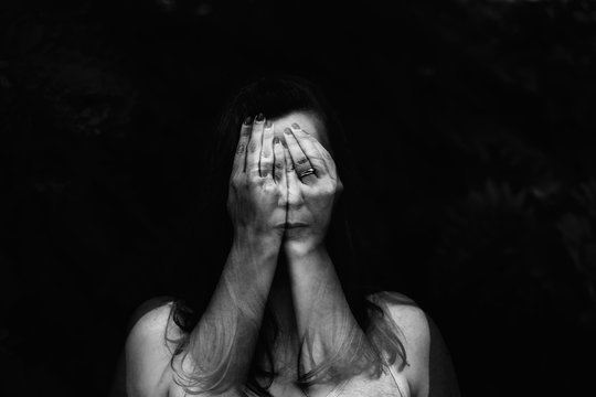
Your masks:
<path fill-rule="evenodd" d="M 355 321 L 324 247 L 288 254 L 298 334 L 308 372 L 331 362 L 340 374 L 366 365 L 371 350 Z M 345 374 L 348 375 L 348 374 Z"/>

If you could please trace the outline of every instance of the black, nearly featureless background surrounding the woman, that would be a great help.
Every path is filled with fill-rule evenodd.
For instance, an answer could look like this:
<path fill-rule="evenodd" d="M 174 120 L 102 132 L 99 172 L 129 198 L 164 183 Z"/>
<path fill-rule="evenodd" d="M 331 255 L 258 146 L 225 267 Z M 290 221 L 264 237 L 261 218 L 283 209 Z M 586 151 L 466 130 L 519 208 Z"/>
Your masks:
<path fill-rule="evenodd" d="M 365 266 L 438 323 L 462 394 L 589 389 L 596 4 L 391 3 L 2 1 L 1 395 L 106 395 L 132 310 L 201 266 L 177 242 L 207 129 L 276 71 L 337 106 Z"/>

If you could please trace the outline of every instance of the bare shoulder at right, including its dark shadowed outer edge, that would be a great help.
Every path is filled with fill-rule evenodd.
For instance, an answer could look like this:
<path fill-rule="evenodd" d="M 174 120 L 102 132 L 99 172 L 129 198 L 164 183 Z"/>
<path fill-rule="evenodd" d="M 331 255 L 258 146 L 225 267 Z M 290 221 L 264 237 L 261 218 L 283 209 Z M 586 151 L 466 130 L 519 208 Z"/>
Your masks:
<path fill-rule="evenodd" d="M 459 396 L 451 358 L 430 316 L 411 298 L 383 291 L 369 298 L 395 322 L 406 351 L 403 369 L 412 395 L 419 397 Z"/>

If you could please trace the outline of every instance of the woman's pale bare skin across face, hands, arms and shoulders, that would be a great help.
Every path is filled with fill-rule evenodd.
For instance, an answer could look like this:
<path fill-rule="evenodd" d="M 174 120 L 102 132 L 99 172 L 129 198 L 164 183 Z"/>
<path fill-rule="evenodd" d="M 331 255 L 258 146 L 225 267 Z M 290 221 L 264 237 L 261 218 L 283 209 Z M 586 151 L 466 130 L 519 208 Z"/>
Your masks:
<path fill-rule="evenodd" d="M 185 354 L 174 360 L 178 372 L 200 375 L 196 386 L 205 395 L 240 395 L 256 353 L 266 304 L 280 325 L 273 352 L 280 376 L 272 386 L 273 395 L 302 396 L 292 384 L 300 341 L 306 347 L 301 353 L 304 371 L 330 361 L 332 368 L 354 378 L 344 385 L 341 396 L 401 396 L 404 391 L 391 376 L 370 380 L 356 375 L 374 355 L 350 311 L 323 244 L 342 184 L 329 148 L 321 142 L 327 142 L 326 131 L 310 112 L 274 120 L 258 117 L 242 126 L 227 202 L 233 247 Z M 300 178 L 310 168 L 313 172 Z M 400 374 L 405 393 L 457 396 L 443 342 L 440 337 L 432 341 L 437 334 L 434 324 L 406 300 L 386 301 L 387 314 L 403 331 L 408 355 L 409 365 Z M 169 310 L 160 305 L 149 311 L 130 332 L 126 346 L 128 396 L 183 395 L 168 365 L 171 353 L 163 346 L 163 330 L 173 337 L 179 332 L 168 322 Z M 309 388 L 309 396 L 326 396 L 342 382 L 321 380 Z M 222 385 L 233 387 L 222 389 Z"/>

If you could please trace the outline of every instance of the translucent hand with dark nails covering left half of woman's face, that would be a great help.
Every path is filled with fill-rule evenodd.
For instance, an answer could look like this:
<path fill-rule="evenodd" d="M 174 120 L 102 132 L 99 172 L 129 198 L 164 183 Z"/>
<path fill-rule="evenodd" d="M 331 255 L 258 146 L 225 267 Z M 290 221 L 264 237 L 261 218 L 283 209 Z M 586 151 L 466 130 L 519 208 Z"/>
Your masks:
<path fill-rule="evenodd" d="M 259 114 L 242 125 L 230 178 L 234 238 L 280 244 L 286 223 L 286 160 L 274 126 Z"/>

